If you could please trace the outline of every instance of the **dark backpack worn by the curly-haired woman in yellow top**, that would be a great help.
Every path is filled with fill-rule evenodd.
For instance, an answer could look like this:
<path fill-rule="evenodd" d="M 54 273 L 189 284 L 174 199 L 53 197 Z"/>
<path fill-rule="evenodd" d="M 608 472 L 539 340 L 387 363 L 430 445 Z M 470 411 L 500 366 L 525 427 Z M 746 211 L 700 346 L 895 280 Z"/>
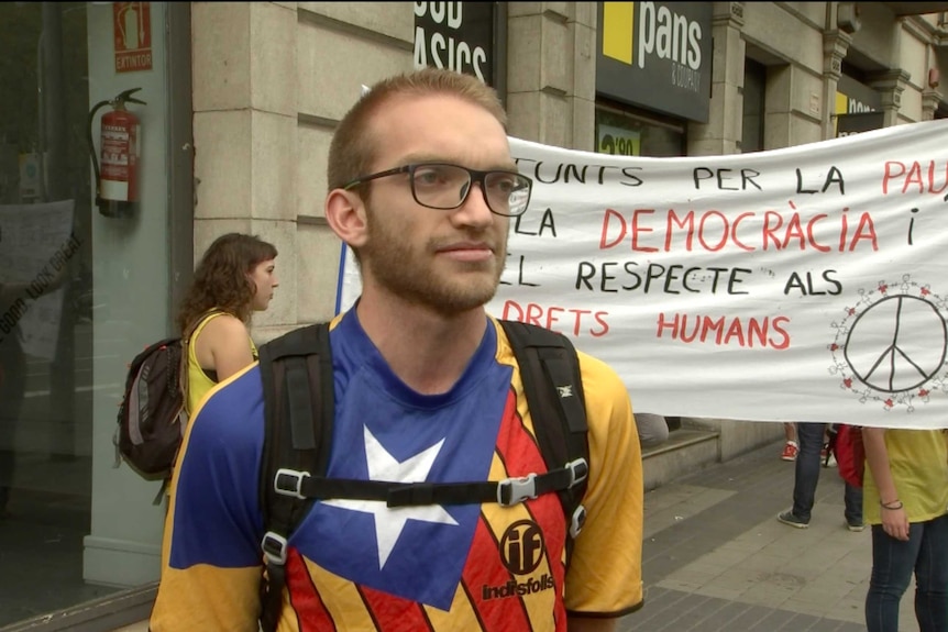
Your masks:
<path fill-rule="evenodd" d="M 184 337 L 152 343 L 129 364 L 125 389 L 119 404 L 118 428 L 112 436 L 115 467 L 124 461 L 146 480 L 164 480 L 181 445 L 187 423 L 187 339 L 217 310 L 201 314 Z M 163 498 L 164 487 L 155 497 Z"/>

